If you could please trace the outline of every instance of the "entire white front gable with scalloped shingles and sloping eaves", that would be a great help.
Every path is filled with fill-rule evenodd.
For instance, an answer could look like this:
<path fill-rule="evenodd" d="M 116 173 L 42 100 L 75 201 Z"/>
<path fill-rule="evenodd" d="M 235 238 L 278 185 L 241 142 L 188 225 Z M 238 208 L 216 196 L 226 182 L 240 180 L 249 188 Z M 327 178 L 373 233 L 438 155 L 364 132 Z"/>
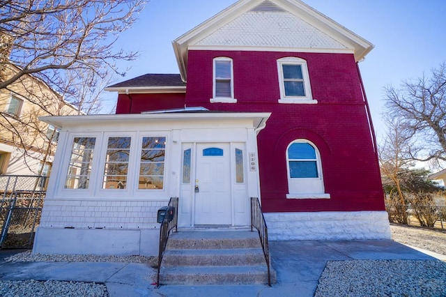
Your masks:
<path fill-rule="evenodd" d="M 364 59 L 374 47 L 300 0 L 240 0 L 173 42 L 184 81 L 188 50 L 348 52 Z"/>

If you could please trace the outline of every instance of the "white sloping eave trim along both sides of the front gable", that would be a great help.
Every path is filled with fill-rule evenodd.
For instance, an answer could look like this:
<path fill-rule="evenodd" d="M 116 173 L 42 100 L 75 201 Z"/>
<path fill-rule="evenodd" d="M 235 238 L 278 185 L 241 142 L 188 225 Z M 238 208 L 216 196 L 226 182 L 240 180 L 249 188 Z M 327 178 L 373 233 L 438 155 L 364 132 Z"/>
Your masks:
<path fill-rule="evenodd" d="M 249 10 L 256 8 L 256 6 L 259 6 L 263 2 L 263 0 L 240 0 L 174 40 L 174 52 L 183 81 L 187 80 L 187 51 L 190 45 L 196 44 L 199 40 L 206 38 L 206 36 L 209 36 L 225 24 L 235 20 L 240 15 L 243 15 L 243 13 L 247 13 Z M 341 26 L 341 24 L 334 22 L 334 20 L 307 6 L 307 4 L 300 0 L 269 0 L 269 2 L 274 3 L 280 8 L 284 8 L 284 10 L 287 10 L 296 17 L 300 17 L 311 26 L 314 26 L 334 40 L 337 40 L 347 48 L 352 49 L 356 61 L 364 59 L 364 56 L 374 47 L 369 41 L 357 36 L 352 31 Z"/>

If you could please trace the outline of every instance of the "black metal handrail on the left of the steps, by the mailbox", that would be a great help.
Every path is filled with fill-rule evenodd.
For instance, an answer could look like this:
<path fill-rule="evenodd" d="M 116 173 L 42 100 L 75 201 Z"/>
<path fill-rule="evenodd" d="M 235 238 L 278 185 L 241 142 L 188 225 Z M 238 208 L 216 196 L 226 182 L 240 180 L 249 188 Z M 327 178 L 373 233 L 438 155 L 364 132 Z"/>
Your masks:
<path fill-rule="evenodd" d="M 178 197 L 171 197 L 168 205 L 168 213 L 164 216 L 164 220 L 160 226 L 160 250 L 158 252 L 158 268 L 156 275 L 156 284 L 160 286 L 160 268 L 164 251 L 166 250 L 167 241 L 169 240 L 170 231 L 175 228 L 178 232 Z"/>

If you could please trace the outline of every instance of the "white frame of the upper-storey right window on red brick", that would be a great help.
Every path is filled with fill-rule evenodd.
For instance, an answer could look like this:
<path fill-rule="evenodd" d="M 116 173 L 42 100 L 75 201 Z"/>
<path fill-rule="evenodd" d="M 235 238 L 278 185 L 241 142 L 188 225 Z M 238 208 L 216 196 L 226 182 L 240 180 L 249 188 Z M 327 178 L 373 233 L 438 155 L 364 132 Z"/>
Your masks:
<path fill-rule="evenodd" d="M 305 96 L 286 96 L 284 85 L 284 65 L 298 65 L 302 69 Z M 316 104 L 318 101 L 313 99 L 312 86 L 309 81 L 307 61 L 297 57 L 289 56 L 277 60 L 277 73 L 279 76 L 280 99 L 279 103 L 298 103 L 298 104 Z"/>

